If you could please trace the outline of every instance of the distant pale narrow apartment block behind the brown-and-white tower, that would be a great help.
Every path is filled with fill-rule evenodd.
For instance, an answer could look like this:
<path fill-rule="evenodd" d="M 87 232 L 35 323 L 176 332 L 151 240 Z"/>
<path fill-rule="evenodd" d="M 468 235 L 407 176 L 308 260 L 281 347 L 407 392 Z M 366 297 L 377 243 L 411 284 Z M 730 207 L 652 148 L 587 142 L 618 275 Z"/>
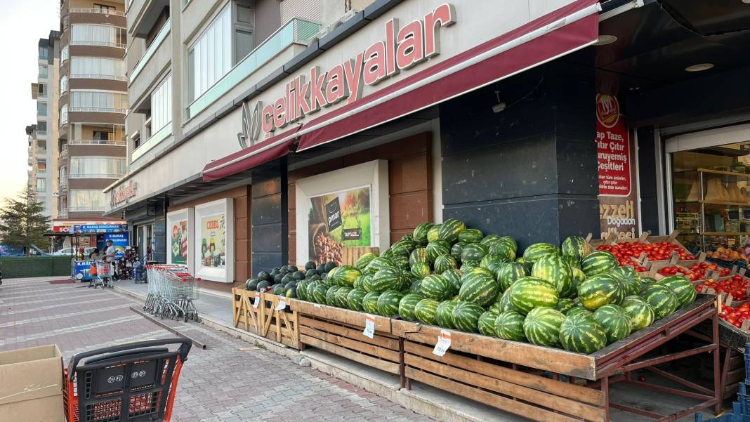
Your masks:
<path fill-rule="evenodd" d="M 60 32 L 49 31 L 49 37 L 40 38 L 38 43 L 39 73 L 37 81 L 31 82 L 31 99 L 37 102 L 37 124 L 26 127 L 26 133 L 34 136 L 31 188 L 37 199 L 44 203 L 44 214 L 57 217 L 57 142 L 58 142 L 58 81 L 59 81 L 59 42 Z M 30 131 L 33 127 L 34 130 Z M 31 181 L 31 178 L 30 178 Z"/>

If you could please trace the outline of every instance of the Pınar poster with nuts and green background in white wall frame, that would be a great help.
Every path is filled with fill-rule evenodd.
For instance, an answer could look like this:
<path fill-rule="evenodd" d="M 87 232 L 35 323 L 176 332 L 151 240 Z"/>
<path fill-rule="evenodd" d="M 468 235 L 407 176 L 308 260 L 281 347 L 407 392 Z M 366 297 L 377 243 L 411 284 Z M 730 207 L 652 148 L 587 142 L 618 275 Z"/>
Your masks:
<path fill-rule="evenodd" d="M 343 247 L 371 246 L 371 187 L 310 198 L 309 259 L 341 265 Z"/>

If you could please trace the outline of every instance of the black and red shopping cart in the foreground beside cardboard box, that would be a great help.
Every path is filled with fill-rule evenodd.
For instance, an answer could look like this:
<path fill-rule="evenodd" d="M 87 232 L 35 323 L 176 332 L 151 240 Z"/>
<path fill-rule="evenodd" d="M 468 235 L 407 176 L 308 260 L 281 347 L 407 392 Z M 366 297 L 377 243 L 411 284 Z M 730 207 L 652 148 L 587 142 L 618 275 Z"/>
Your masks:
<path fill-rule="evenodd" d="M 170 352 L 166 346 L 179 345 Z M 186 338 L 127 343 L 74 355 L 64 372 L 68 422 L 169 422 Z M 86 361 L 80 364 L 84 358 Z"/>

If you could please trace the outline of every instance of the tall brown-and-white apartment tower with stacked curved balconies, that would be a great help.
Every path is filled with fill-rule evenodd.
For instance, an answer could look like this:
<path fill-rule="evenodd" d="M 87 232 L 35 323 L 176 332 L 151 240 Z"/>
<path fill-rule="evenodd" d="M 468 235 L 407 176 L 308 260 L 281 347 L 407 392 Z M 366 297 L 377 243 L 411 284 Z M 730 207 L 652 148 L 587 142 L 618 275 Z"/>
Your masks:
<path fill-rule="evenodd" d="M 58 218 L 102 220 L 126 168 L 124 1 L 62 0 L 60 19 Z"/>

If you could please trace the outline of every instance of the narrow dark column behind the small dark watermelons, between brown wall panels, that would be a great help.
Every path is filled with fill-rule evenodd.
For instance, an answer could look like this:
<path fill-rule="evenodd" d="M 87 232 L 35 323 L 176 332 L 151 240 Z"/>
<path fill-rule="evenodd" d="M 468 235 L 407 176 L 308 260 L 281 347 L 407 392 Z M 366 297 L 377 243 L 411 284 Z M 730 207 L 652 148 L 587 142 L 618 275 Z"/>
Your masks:
<path fill-rule="evenodd" d="M 251 197 L 252 273 L 289 262 L 287 159 L 253 172 Z"/>

